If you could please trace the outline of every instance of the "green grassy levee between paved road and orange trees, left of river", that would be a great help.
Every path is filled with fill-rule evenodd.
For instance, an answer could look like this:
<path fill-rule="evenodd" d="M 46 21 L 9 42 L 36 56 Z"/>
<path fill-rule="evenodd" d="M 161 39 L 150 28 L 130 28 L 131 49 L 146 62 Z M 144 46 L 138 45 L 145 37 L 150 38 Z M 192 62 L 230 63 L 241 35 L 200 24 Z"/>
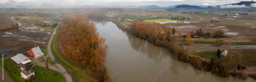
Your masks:
<path fill-rule="evenodd" d="M 67 59 L 67 57 L 64 54 L 62 54 L 58 45 L 59 29 L 60 29 L 60 26 L 57 27 L 56 34 L 52 39 L 52 43 L 51 43 L 52 55 L 71 74 L 73 81 L 77 81 L 79 79 L 79 82 L 80 82 L 80 81 L 83 81 L 84 79 L 84 81 L 91 82 L 92 80 L 91 80 L 91 77 L 89 77 L 90 75 L 89 71 L 85 69 L 81 69 L 78 66 L 74 65 L 72 62 L 70 62 L 69 59 Z M 78 70 L 78 71 L 76 71 L 76 73 L 74 73 L 73 75 L 72 70 Z M 78 78 L 79 74 L 81 74 L 80 78 Z"/>

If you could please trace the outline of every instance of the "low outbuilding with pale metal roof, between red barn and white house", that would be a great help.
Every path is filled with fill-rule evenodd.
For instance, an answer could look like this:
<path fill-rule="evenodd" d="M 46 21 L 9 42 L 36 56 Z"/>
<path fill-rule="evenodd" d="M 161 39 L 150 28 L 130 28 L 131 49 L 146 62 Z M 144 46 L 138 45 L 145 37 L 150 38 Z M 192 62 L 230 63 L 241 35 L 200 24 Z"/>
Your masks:
<path fill-rule="evenodd" d="M 16 56 L 11 58 L 11 62 L 13 62 L 16 66 L 27 66 L 30 65 L 31 60 L 23 54 L 17 54 Z"/>

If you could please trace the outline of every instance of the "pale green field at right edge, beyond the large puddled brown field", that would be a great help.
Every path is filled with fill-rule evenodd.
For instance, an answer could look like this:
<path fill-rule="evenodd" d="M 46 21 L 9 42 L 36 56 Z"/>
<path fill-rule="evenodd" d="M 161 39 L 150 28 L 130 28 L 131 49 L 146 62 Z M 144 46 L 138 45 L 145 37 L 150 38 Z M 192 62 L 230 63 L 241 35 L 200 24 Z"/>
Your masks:
<path fill-rule="evenodd" d="M 236 26 L 244 26 L 244 27 L 254 27 L 256 25 L 255 20 L 253 20 L 253 19 L 243 19 L 243 18 L 221 20 L 221 22 L 216 22 L 216 23 L 236 25 Z"/>

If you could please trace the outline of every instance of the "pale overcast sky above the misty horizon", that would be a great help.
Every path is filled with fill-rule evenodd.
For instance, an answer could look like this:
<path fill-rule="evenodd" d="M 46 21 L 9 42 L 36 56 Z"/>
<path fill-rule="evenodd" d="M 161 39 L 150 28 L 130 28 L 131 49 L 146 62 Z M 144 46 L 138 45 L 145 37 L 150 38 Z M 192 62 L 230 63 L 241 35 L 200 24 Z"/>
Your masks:
<path fill-rule="evenodd" d="M 248 0 L 102 0 L 100 5 L 112 6 L 150 6 L 157 5 L 160 7 L 173 6 L 177 4 L 204 4 L 209 5 L 224 5 L 231 3 L 239 3 Z M 256 0 L 252 0 L 256 1 Z M 6 4 L 12 6 L 30 6 L 30 7 L 58 7 L 58 6 L 84 6 L 96 5 L 100 0 L 0 0 L 0 7 L 6 7 Z M 10 4 L 11 3 L 11 4 Z"/>

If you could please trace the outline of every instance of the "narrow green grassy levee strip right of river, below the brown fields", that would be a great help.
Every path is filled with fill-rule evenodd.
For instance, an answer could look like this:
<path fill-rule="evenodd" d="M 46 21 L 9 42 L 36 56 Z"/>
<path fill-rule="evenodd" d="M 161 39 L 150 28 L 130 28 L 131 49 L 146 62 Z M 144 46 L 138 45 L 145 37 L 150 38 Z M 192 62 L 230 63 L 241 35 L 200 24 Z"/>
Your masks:
<path fill-rule="evenodd" d="M 185 39 L 181 39 L 180 41 L 185 42 Z M 193 40 L 193 43 L 194 44 L 223 45 L 224 42 Z M 256 45 L 256 42 L 231 42 L 231 45 Z"/>

